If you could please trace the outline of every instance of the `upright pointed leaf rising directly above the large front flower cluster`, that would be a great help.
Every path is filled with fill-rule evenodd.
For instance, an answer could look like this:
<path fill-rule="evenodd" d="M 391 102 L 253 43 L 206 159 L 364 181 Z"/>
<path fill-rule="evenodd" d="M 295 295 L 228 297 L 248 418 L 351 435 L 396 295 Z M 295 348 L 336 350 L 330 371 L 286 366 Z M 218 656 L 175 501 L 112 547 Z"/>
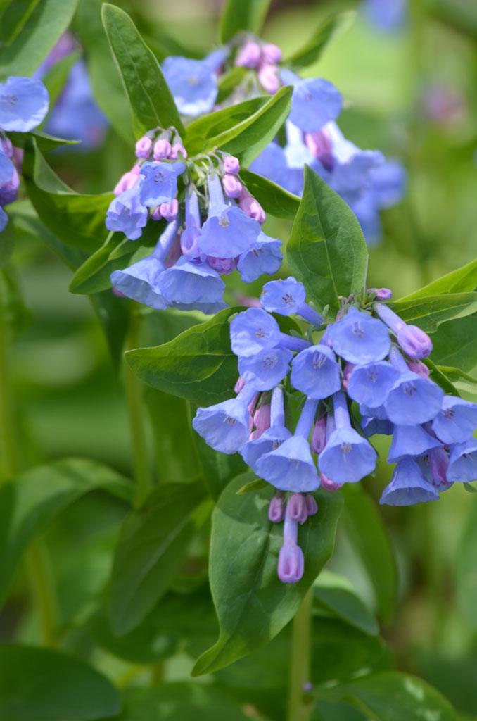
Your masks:
<path fill-rule="evenodd" d="M 361 290 L 367 247 L 355 214 L 305 166 L 305 189 L 287 244 L 290 270 L 319 309 L 338 310 L 338 296 Z"/>

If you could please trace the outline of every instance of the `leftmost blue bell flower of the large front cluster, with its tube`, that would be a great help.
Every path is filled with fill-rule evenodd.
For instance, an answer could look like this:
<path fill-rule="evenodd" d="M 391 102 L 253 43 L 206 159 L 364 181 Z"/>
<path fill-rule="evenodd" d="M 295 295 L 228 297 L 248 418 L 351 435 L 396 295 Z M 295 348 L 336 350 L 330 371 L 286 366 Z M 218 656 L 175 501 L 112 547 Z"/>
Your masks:
<path fill-rule="evenodd" d="M 192 428 L 215 451 L 236 453 L 249 438 L 248 406 L 254 395 L 255 389 L 246 385 L 236 398 L 197 408 Z"/>

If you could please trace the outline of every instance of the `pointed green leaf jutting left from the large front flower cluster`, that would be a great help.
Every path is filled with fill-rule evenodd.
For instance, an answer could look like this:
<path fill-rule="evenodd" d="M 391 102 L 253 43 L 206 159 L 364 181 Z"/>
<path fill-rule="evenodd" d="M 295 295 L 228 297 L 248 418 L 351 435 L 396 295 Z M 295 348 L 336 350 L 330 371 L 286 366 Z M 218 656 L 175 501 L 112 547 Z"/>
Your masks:
<path fill-rule="evenodd" d="M 125 358 L 136 375 L 153 388 L 197 405 L 224 401 L 231 397 L 239 373 L 228 323 L 237 310 L 227 308 L 169 343 L 129 350 Z"/>

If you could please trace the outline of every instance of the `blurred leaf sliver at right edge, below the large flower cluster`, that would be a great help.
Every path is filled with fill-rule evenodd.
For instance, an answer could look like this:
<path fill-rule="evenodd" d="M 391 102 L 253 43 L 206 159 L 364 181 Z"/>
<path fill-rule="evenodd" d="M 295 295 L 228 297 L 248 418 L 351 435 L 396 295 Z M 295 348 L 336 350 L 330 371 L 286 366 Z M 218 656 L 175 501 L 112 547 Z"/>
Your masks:
<path fill-rule="evenodd" d="M 475 490 L 475 489 L 473 489 Z M 455 558 L 457 598 L 471 626 L 477 628 L 477 498 L 469 497 L 468 513 Z"/>

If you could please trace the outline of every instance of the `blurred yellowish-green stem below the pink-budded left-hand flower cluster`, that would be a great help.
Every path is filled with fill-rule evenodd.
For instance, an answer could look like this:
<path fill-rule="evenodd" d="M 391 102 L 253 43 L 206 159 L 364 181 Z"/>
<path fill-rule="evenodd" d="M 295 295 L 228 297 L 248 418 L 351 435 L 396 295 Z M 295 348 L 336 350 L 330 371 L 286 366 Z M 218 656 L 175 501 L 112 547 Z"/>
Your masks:
<path fill-rule="evenodd" d="M 138 348 L 141 316 L 132 312 L 130 319 L 128 350 Z M 126 363 L 125 368 L 126 397 L 133 443 L 134 477 L 136 482 L 135 505 L 140 506 L 151 489 L 151 477 L 148 467 L 146 437 L 144 435 L 143 408 L 141 399 L 141 383 Z"/>

